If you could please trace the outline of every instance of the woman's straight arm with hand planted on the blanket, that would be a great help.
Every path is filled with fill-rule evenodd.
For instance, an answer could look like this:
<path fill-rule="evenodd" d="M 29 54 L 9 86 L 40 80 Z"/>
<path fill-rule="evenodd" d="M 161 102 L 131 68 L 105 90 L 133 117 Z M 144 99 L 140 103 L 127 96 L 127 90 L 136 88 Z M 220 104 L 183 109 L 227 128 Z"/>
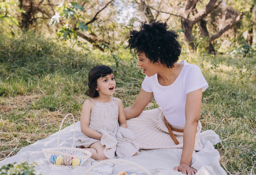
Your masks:
<path fill-rule="evenodd" d="M 183 150 L 180 165 L 174 170 L 183 174 L 194 175 L 197 171 L 191 168 L 192 154 L 195 145 L 196 129 L 202 101 L 202 88 L 187 94 L 185 116 L 186 124 L 183 132 Z"/>

